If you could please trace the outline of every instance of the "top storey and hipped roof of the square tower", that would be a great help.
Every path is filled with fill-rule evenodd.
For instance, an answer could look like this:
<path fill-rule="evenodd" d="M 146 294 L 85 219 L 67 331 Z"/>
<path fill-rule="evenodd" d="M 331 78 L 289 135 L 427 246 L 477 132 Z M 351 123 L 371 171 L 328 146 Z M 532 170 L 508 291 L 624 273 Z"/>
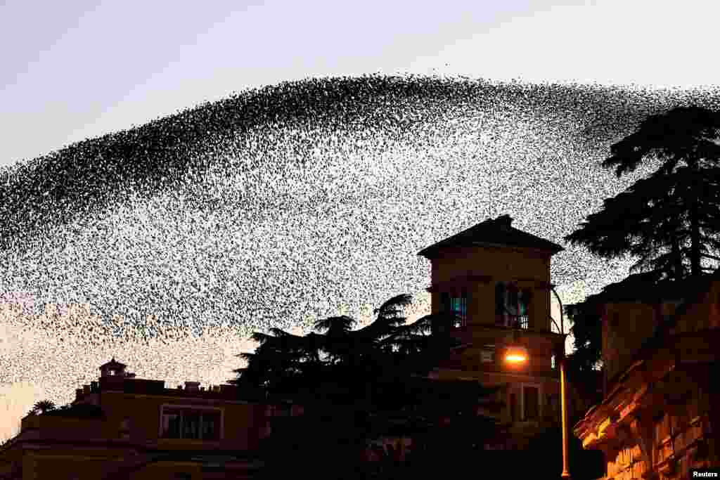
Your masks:
<path fill-rule="evenodd" d="M 454 313 L 454 327 L 550 330 L 550 258 L 564 248 L 512 223 L 503 214 L 420 250 L 433 313 Z"/>

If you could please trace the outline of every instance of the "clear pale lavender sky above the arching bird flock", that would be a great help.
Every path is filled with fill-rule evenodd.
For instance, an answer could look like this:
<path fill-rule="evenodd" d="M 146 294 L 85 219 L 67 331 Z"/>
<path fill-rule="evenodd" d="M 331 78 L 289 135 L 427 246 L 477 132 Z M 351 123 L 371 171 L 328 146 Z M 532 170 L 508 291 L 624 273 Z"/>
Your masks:
<path fill-rule="evenodd" d="M 716 83 L 714 1 L 35 1 L 0 6 L 0 165 L 311 76 Z"/>

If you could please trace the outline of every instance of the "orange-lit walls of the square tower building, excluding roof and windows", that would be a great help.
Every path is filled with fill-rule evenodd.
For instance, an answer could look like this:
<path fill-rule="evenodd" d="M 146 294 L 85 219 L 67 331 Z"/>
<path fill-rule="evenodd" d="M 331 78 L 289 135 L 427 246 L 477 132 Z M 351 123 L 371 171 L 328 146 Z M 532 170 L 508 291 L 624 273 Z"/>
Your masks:
<path fill-rule="evenodd" d="M 495 327 L 495 284 L 513 282 L 519 290 L 531 291 L 528 308 L 531 330 L 550 331 L 550 255 L 534 250 L 513 248 L 464 248 L 444 250 L 431 260 L 432 312 L 441 311 L 441 294 L 469 293 L 467 327 L 454 330 L 462 343 L 472 345 L 452 354 L 434 373 L 438 379 L 476 379 L 485 386 L 505 386 L 497 400 L 505 403 L 500 412 L 492 413 L 501 422 L 512 420 L 511 395 L 515 395 L 518 414 L 522 415 L 523 388 L 534 386 L 539 393 L 539 419 L 516 422 L 517 432 L 531 433 L 544 420 L 559 421 L 559 372 L 552 367 L 554 341 L 542 335 L 513 335 L 510 330 Z M 474 277 L 474 278 L 473 278 Z M 505 348 L 520 343 L 528 350 L 528 363 L 511 366 L 503 361 Z M 482 361 L 484 345 L 495 346 L 495 359 Z M 491 412 L 485 412 L 490 415 Z M 516 418 L 516 420 L 518 420 Z"/>

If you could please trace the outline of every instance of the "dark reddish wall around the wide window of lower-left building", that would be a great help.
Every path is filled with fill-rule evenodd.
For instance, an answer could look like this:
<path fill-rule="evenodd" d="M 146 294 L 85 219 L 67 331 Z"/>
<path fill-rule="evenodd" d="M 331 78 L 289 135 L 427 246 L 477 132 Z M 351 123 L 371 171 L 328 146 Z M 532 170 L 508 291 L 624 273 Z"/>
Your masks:
<path fill-rule="evenodd" d="M 266 407 L 243 402 L 169 397 L 162 395 L 125 394 L 102 391 L 103 419 L 81 419 L 56 416 L 27 416 L 22 420 L 19 437 L 6 448 L 0 448 L 0 478 L 12 471 L 22 472 L 22 479 L 101 479 L 115 468 L 127 468 L 142 461 L 150 450 L 253 451 L 258 449 L 264 430 Z M 222 411 L 220 440 L 164 439 L 161 437 L 161 407 L 211 407 Z M 22 468 L 21 468 L 22 467 Z M 228 463 L 243 474 L 242 463 Z M 162 461 L 140 468 L 122 478 L 174 479 L 174 474 L 190 479 L 208 478 L 199 463 Z M 12 478 L 12 477 L 10 477 Z"/>

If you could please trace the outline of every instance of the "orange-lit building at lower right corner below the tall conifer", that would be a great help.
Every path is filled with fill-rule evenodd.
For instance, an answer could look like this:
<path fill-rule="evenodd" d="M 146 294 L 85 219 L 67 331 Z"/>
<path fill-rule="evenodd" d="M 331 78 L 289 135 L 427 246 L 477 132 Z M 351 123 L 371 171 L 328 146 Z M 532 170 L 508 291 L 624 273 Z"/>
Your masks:
<path fill-rule="evenodd" d="M 720 468 L 720 271 L 603 306 L 603 401 L 575 425 L 605 479 L 689 479 Z"/>

